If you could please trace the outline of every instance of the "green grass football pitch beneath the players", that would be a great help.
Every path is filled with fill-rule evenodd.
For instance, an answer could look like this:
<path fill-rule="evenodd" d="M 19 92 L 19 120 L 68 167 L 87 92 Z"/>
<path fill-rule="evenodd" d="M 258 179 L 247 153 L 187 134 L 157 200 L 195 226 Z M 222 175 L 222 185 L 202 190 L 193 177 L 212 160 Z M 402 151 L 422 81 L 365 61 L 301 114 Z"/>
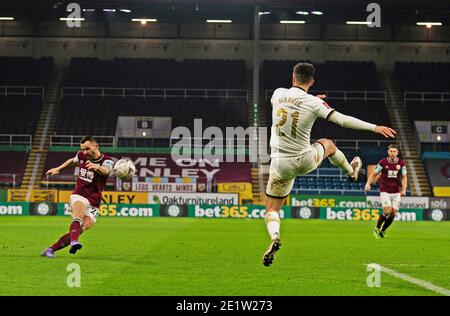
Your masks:
<path fill-rule="evenodd" d="M 261 263 L 262 220 L 99 218 L 77 255 L 40 252 L 67 232 L 65 217 L 0 217 L 0 295 L 437 295 L 365 264 L 450 288 L 450 222 L 396 222 L 375 240 L 373 222 L 283 220 L 283 247 Z M 81 267 L 69 288 L 66 267 Z"/>

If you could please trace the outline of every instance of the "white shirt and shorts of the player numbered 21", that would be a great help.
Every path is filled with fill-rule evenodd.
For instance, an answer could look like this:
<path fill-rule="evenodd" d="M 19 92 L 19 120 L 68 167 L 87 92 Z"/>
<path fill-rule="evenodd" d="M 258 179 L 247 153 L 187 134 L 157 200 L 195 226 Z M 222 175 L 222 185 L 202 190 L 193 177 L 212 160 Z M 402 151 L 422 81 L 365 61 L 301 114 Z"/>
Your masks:
<path fill-rule="evenodd" d="M 317 118 L 330 120 L 342 127 L 374 131 L 376 125 L 343 115 L 300 87 L 278 88 L 272 103 L 271 162 L 266 195 L 285 198 L 297 176 L 317 169 L 325 158 L 320 143 L 311 145 L 311 129 Z"/>

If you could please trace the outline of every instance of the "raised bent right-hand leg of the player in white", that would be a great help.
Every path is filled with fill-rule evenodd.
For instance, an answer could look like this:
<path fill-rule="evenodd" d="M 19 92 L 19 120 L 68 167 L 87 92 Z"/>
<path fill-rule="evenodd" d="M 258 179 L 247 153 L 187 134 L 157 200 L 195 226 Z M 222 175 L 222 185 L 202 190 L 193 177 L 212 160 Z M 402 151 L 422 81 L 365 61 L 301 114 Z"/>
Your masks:
<path fill-rule="evenodd" d="M 325 157 L 328 157 L 333 166 L 336 166 L 344 171 L 350 181 L 356 181 L 358 179 L 358 174 L 362 167 L 361 158 L 356 156 L 351 162 L 348 162 L 344 153 L 340 151 L 330 139 L 321 138 L 316 143 L 323 146 L 325 150 Z"/>

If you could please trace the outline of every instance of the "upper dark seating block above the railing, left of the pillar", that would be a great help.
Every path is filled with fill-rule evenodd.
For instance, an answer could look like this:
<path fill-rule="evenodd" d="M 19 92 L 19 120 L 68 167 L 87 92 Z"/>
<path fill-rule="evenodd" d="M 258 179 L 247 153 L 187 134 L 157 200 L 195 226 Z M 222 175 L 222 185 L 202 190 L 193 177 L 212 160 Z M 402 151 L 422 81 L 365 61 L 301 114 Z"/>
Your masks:
<path fill-rule="evenodd" d="M 89 75 L 87 75 L 89 74 Z M 244 60 L 73 58 L 66 86 L 121 88 L 246 88 Z"/>

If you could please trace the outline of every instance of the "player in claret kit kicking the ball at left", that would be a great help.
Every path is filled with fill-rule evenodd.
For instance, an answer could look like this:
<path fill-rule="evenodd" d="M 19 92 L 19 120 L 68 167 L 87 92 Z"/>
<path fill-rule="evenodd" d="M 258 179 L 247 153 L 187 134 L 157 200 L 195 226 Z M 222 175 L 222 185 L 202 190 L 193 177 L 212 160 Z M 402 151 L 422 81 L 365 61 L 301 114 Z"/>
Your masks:
<path fill-rule="evenodd" d="M 97 219 L 102 192 L 114 162 L 109 156 L 100 153 L 98 143 L 92 136 L 83 137 L 80 148 L 75 157 L 47 171 L 47 175 L 56 175 L 66 167 L 78 165 L 77 184 L 70 196 L 72 223 L 69 232 L 44 250 L 41 256 L 54 258 L 55 251 L 69 245 L 69 252 L 75 254 L 83 247 L 78 241 L 80 234 L 91 228 Z"/>

